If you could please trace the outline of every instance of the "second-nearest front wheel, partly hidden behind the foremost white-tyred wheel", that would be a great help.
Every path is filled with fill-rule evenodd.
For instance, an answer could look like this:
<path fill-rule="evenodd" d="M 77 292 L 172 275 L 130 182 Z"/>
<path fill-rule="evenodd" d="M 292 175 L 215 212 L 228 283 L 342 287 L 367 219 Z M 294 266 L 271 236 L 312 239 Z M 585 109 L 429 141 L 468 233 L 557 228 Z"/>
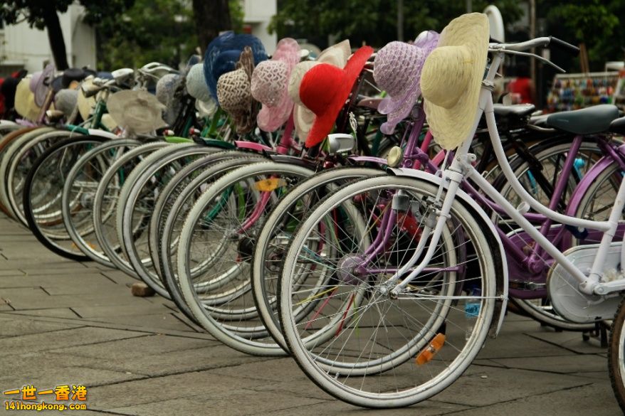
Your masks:
<path fill-rule="evenodd" d="M 308 210 L 328 193 L 358 178 L 376 176 L 380 169 L 341 167 L 316 174 L 280 199 L 261 225 L 252 255 L 252 294 L 263 325 L 286 351 L 278 322 L 278 271 L 293 238 L 293 231 Z"/>

